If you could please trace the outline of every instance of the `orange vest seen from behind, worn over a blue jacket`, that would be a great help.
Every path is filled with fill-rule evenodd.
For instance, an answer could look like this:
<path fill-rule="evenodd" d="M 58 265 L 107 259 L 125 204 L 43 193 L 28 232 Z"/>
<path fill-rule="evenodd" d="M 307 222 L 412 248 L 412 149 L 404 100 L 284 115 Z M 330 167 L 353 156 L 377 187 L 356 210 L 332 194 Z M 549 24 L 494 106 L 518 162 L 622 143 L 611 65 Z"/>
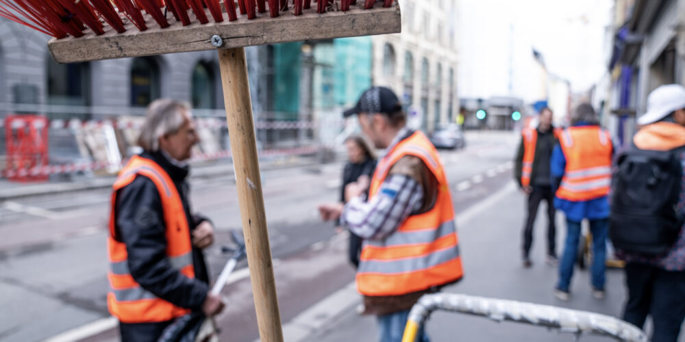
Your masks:
<path fill-rule="evenodd" d="M 597 126 L 570 127 L 559 142 L 566 170 L 556 196 L 572 202 L 607 196 L 611 185 L 611 135 Z"/>

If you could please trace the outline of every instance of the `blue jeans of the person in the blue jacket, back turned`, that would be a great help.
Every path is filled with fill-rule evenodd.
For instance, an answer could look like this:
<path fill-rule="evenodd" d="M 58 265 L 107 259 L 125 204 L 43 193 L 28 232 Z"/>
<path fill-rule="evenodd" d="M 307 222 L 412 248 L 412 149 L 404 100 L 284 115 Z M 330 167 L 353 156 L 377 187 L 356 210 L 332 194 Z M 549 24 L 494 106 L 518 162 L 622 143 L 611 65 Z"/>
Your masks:
<path fill-rule="evenodd" d="M 590 233 L 593 235 L 593 265 L 592 265 L 592 285 L 595 289 L 604 289 L 604 272 L 606 270 L 606 235 L 608 233 L 609 220 L 590 220 Z M 580 242 L 580 222 L 566 220 L 566 243 L 564 244 L 564 254 L 559 263 L 559 283 L 557 289 L 569 291 L 571 277 L 573 276 L 573 265 L 578 254 L 578 243 Z"/>

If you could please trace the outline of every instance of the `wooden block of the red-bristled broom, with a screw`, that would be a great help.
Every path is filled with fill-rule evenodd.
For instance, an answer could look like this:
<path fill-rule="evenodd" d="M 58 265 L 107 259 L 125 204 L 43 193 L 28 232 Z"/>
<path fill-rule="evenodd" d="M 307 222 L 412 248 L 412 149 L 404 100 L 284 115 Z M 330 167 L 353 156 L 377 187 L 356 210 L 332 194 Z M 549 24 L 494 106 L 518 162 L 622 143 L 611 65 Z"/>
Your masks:
<path fill-rule="evenodd" d="M 148 22 L 152 21 L 149 16 L 146 16 L 146 19 Z M 138 31 L 131 23 L 127 23 L 127 31 L 123 34 L 106 27 L 105 34 L 101 36 L 89 32 L 81 38 L 53 38 L 48 47 L 55 61 L 73 63 L 216 50 L 211 42 L 214 35 L 223 38 L 223 45 L 219 49 L 229 49 L 301 40 L 393 34 L 401 31 L 399 5 L 390 8 L 377 6 L 372 10 L 351 6 L 348 12 L 325 14 L 317 14 L 310 10 L 301 16 L 295 16 L 288 11 L 282 12 L 276 18 L 260 16 L 253 20 L 247 20 L 247 16 L 238 16 L 237 21 L 204 25 L 197 23 L 195 18 L 192 22 L 188 26 L 175 22 L 165 29 L 151 24 L 151 28 L 146 31 Z"/>

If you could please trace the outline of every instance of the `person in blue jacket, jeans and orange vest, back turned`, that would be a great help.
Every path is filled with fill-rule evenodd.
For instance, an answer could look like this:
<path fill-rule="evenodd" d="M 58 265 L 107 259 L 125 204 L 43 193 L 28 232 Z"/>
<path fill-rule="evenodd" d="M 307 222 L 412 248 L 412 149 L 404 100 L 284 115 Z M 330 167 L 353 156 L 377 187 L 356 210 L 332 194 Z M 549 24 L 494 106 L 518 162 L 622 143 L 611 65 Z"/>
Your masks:
<path fill-rule="evenodd" d="M 593 240 L 593 296 L 604 297 L 612 153 L 611 136 L 599 127 L 595 109 L 588 104 L 579 105 L 571 118 L 571 127 L 560 134 L 551 159 L 554 205 L 566 214 L 566 242 L 554 291 L 559 300 L 570 299 L 569 287 L 584 219 L 590 221 Z"/>

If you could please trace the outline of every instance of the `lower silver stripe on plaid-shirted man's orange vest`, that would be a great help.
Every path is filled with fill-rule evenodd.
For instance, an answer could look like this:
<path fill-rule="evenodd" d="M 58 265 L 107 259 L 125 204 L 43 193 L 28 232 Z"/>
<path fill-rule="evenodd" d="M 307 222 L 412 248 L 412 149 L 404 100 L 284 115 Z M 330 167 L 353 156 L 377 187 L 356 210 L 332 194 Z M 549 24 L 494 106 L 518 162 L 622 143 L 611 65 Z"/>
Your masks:
<path fill-rule="evenodd" d="M 421 271 L 459 257 L 459 247 L 452 246 L 428 255 L 394 260 L 365 260 L 359 263 L 359 273 L 402 274 Z"/>

